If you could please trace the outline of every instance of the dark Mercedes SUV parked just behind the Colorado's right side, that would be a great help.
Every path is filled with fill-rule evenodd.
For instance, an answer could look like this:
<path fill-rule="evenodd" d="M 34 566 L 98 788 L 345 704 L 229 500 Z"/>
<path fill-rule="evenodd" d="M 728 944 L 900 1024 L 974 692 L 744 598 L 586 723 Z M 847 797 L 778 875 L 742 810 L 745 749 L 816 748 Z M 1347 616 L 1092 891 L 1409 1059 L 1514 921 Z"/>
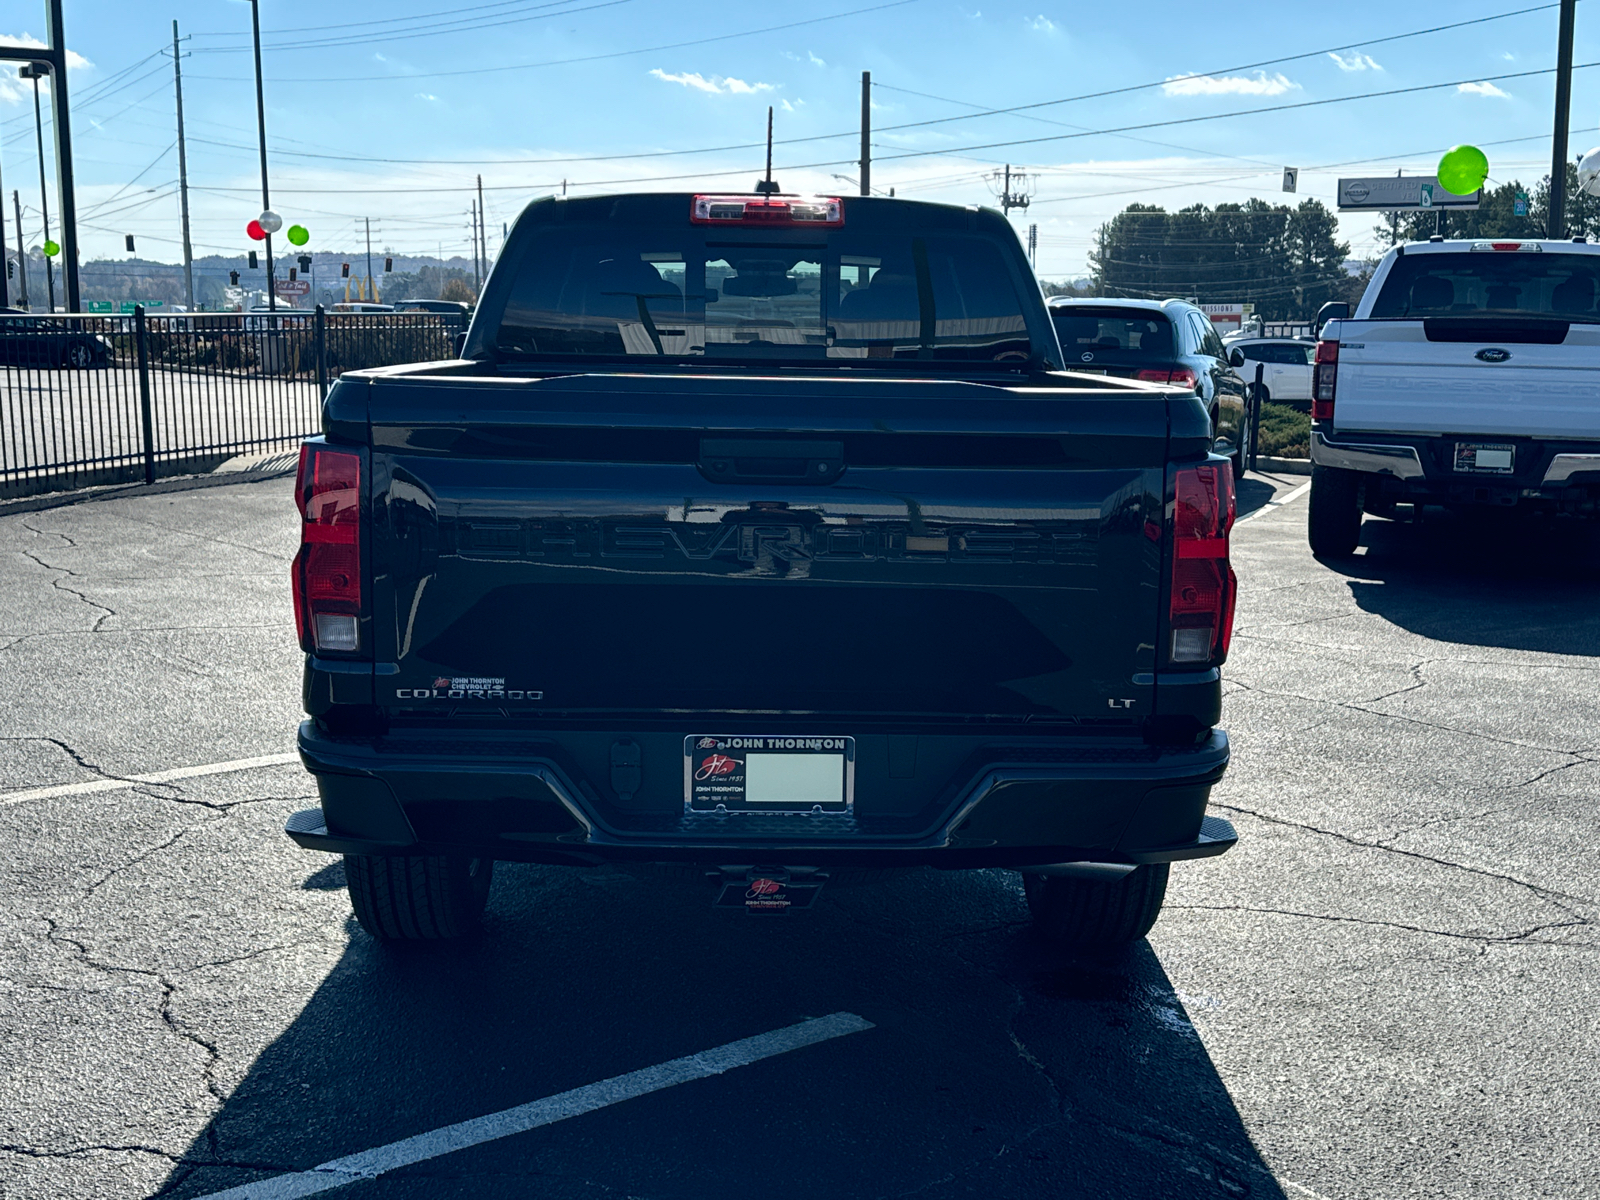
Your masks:
<path fill-rule="evenodd" d="M 1050 301 L 1067 370 L 1178 384 L 1200 397 L 1219 454 L 1245 474 L 1250 448 L 1245 379 L 1229 362 L 1211 320 L 1186 301 Z"/>

